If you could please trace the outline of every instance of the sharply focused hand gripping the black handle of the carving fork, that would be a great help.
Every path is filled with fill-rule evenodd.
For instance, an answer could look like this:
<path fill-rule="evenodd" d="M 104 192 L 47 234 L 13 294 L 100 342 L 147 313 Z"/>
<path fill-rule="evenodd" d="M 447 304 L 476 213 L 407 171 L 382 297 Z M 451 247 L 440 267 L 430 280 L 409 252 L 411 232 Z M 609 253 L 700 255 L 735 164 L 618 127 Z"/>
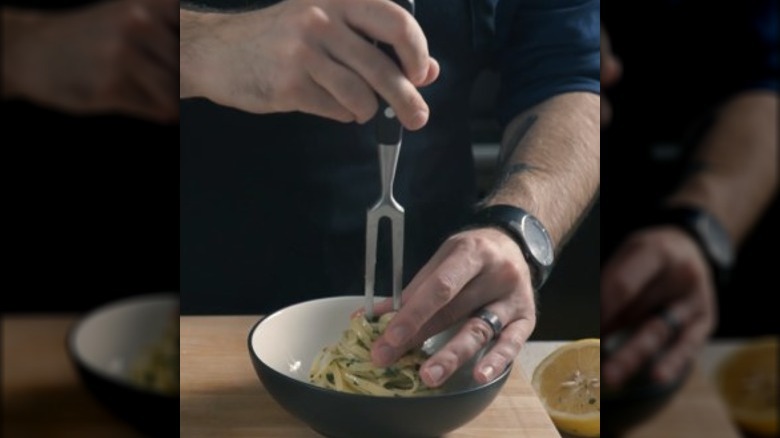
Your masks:
<path fill-rule="evenodd" d="M 432 83 L 439 65 L 414 17 L 388 0 L 288 0 L 245 13 L 187 14 L 182 97 L 364 123 L 377 111 L 376 92 L 407 129 L 428 121 L 416 87 Z M 403 71 L 367 38 L 391 44 Z"/>

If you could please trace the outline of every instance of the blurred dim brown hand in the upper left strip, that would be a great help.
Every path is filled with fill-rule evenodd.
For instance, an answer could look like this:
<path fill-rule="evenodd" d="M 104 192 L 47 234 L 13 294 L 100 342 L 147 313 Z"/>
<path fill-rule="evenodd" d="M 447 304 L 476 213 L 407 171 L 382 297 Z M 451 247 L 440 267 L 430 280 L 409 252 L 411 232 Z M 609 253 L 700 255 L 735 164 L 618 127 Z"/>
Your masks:
<path fill-rule="evenodd" d="M 177 7 L 119 0 L 64 13 L 4 11 L 4 94 L 74 114 L 176 120 Z"/>

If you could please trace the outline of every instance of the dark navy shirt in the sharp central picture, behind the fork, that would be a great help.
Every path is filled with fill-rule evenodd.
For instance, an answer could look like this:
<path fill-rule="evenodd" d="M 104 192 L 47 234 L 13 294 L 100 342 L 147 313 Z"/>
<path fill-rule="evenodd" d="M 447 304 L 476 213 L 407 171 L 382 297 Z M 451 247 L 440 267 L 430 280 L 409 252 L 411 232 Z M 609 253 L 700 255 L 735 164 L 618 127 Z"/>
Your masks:
<path fill-rule="evenodd" d="M 220 5 L 248 6 L 208 4 Z M 441 75 L 422 90 L 430 121 L 404 133 L 396 175 L 405 282 L 476 201 L 469 97 L 480 70 L 502 73 L 502 123 L 556 94 L 599 91 L 598 1 L 418 1 L 416 18 Z M 363 293 L 366 211 L 379 195 L 371 123 L 259 116 L 205 100 L 183 101 L 181 116 L 182 312 L 268 312 Z M 380 294 L 389 291 L 387 244 Z"/>

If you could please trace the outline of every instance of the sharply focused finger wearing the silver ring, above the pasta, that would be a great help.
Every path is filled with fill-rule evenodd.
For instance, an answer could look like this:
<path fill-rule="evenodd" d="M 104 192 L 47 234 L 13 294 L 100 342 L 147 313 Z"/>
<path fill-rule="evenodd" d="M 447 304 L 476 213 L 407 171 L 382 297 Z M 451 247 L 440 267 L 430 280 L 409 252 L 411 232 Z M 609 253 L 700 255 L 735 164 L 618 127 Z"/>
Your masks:
<path fill-rule="evenodd" d="M 509 320 L 505 306 L 494 304 L 486 309 L 495 313 L 502 324 Z M 493 337 L 493 329 L 488 323 L 476 317 L 467 319 L 458 333 L 420 367 L 420 378 L 429 387 L 441 385 Z"/>

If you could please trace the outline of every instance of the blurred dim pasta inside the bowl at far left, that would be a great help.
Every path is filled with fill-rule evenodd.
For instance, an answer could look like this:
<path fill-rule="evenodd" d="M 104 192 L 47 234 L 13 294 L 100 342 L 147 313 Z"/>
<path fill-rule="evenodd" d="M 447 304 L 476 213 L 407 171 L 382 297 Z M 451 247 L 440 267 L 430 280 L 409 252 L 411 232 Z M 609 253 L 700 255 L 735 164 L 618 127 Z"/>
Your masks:
<path fill-rule="evenodd" d="M 133 363 L 136 384 L 167 395 L 179 395 L 179 318 L 171 318 L 165 333 Z"/>

